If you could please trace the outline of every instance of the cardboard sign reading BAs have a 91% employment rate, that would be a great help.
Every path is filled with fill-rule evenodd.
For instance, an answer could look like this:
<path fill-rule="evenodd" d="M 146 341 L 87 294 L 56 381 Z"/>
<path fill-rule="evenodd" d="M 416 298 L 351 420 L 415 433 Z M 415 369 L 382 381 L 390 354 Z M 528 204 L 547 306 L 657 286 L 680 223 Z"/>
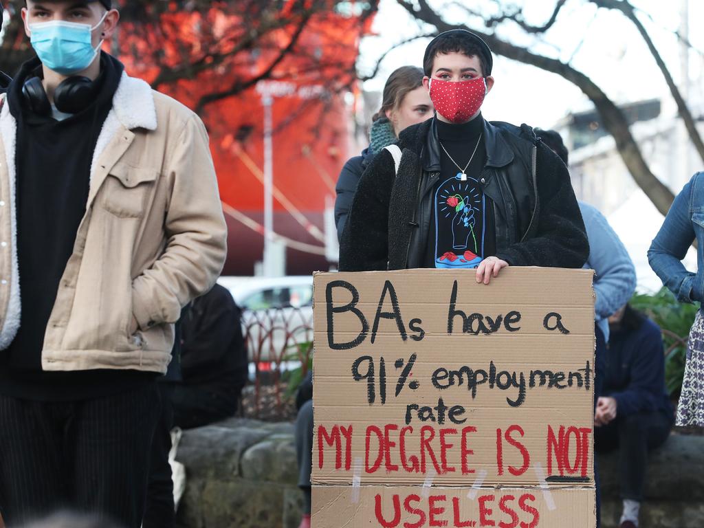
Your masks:
<path fill-rule="evenodd" d="M 339 503 L 330 494 L 349 486 L 361 510 L 379 496 L 389 512 L 394 487 L 379 486 L 405 490 L 401 508 L 429 486 L 462 486 L 445 493 L 448 511 L 472 486 L 572 486 L 553 495 L 584 491 L 592 511 L 591 280 L 553 268 L 506 268 L 489 286 L 456 270 L 316 274 L 314 519 L 317 498 Z"/>

